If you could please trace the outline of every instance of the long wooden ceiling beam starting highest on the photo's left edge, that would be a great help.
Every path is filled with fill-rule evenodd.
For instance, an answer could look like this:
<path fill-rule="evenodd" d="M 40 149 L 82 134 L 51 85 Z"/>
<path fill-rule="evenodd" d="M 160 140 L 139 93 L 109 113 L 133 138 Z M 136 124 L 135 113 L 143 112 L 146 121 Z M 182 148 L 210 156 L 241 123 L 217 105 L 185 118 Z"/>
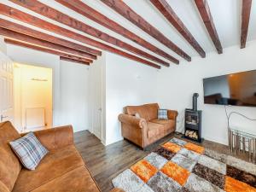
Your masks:
<path fill-rule="evenodd" d="M 141 62 L 143 64 L 146 64 L 146 65 L 150 66 L 150 67 L 160 69 L 160 66 L 155 64 L 154 62 L 144 60 L 140 57 L 137 57 L 136 55 L 131 55 L 129 53 L 126 53 L 123 50 L 113 48 L 113 47 L 109 46 L 108 44 L 102 44 L 101 42 L 98 42 L 94 39 L 85 37 L 84 35 L 81 35 L 77 32 L 67 30 L 66 28 L 63 28 L 61 26 L 54 25 L 52 23 L 49 23 L 45 20 L 41 20 L 41 19 L 39 19 L 35 16 L 32 16 L 32 15 L 28 15 L 28 14 L 26 14 L 26 13 L 24 13 L 24 12 L 18 10 L 18 9 L 11 8 L 11 7 L 9 7 L 7 5 L 4 5 L 2 3 L 0 3 L 0 15 L 5 15 L 5 16 L 8 16 L 8 17 L 13 18 L 15 20 L 20 20 L 20 21 L 28 23 L 32 26 L 38 26 L 39 28 L 44 29 L 46 31 L 54 32 L 54 33 L 59 34 L 61 36 L 75 39 L 75 40 L 77 40 L 81 43 L 89 44 L 89 45 L 91 45 L 93 47 L 96 47 L 98 49 L 103 49 L 103 50 L 109 51 L 111 53 L 124 56 L 124 57 L 126 57 L 128 59 L 131 59 L 133 61 Z M 1 22 L 0 22 L 0 26 L 1 26 Z"/>

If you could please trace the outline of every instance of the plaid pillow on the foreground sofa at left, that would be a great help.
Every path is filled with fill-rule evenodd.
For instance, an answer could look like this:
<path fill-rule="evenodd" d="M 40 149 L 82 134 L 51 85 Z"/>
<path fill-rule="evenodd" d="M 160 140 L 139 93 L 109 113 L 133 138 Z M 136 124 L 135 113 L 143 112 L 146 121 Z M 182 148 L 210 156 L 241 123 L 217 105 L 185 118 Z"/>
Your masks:
<path fill-rule="evenodd" d="M 22 165 L 29 170 L 35 170 L 39 162 L 43 160 L 45 154 L 49 152 L 32 132 L 9 144 Z"/>

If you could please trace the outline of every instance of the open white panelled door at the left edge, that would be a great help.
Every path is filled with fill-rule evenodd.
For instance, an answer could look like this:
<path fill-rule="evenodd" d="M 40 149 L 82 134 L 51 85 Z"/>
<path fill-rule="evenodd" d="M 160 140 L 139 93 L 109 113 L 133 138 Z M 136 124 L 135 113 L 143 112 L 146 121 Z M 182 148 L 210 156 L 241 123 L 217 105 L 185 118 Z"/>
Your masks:
<path fill-rule="evenodd" d="M 13 66 L 14 63 L 0 52 L 0 122 L 14 120 Z"/>

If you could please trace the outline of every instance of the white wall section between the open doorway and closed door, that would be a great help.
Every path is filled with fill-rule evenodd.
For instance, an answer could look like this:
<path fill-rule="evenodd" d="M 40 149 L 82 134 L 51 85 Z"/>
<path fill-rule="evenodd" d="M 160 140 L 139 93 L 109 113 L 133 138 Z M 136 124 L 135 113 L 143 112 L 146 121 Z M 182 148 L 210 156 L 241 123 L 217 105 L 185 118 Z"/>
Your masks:
<path fill-rule="evenodd" d="M 61 61 L 61 124 L 73 125 L 74 131 L 87 130 L 89 67 Z"/>

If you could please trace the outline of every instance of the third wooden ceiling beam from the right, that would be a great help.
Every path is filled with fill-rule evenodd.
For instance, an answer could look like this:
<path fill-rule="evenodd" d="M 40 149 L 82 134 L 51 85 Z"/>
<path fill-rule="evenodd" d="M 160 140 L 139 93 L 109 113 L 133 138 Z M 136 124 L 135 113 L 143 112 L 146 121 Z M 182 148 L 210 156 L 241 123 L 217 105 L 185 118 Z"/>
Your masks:
<path fill-rule="evenodd" d="M 172 7 L 166 0 L 150 0 L 154 7 L 160 11 L 162 15 L 166 17 L 166 20 L 177 29 L 183 38 L 185 38 L 189 44 L 201 55 L 201 57 L 206 57 L 206 52 L 201 48 L 201 45 L 195 40 L 189 29 L 183 24 L 183 21 L 178 18 L 176 13 L 173 11 Z"/>

